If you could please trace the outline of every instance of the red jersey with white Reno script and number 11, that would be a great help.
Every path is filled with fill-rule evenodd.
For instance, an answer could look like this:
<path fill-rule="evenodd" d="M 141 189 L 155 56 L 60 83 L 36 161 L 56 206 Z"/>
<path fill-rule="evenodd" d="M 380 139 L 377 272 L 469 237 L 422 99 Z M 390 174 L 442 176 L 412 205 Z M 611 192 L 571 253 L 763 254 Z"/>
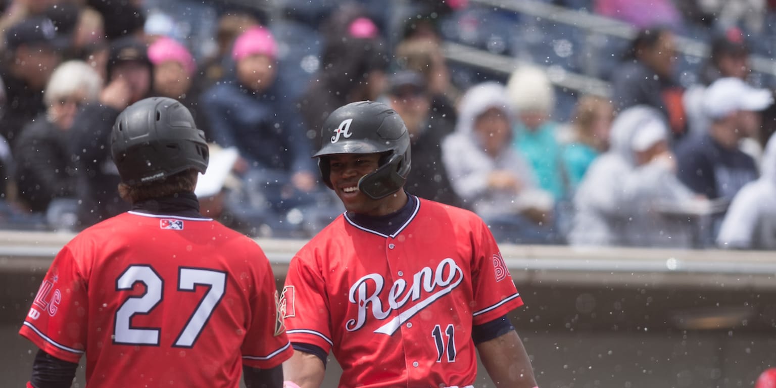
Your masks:
<path fill-rule="evenodd" d="M 521 306 L 480 217 L 420 199 L 385 235 L 334 220 L 293 258 L 280 308 L 289 339 L 333 350 L 340 386 L 468 386 L 473 325 Z"/>

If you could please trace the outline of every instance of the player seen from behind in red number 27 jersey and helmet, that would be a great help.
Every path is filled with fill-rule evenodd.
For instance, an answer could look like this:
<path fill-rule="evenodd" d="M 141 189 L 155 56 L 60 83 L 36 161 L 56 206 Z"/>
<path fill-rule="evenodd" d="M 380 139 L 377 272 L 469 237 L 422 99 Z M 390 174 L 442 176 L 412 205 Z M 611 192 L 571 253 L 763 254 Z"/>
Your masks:
<path fill-rule="evenodd" d="M 208 148 L 174 99 L 136 102 L 111 138 L 128 213 L 54 258 L 19 331 L 40 348 L 28 387 L 282 386 L 293 354 L 275 276 L 248 237 L 199 214 Z M 242 369 L 242 371 L 241 371 Z"/>

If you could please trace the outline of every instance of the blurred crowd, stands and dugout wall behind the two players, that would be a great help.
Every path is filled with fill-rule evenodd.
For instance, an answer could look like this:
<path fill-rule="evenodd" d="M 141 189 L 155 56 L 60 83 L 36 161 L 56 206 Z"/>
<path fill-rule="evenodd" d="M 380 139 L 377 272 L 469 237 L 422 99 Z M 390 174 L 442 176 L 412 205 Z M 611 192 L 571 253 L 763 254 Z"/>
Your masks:
<path fill-rule="evenodd" d="M 407 191 L 473 210 L 502 244 L 540 386 L 753 386 L 776 365 L 776 2 L 0 0 L 0 12 L 10 384 L 28 378 L 16 331 L 54 253 L 129 209 L 109 133 L 153 95 L 188 106 L 210 142 L 202 212 L 258 239 L 279 285 L 295 248 L 344 211 L 310 158 L 321 123 L 380 100 L 411 133 Z"/>

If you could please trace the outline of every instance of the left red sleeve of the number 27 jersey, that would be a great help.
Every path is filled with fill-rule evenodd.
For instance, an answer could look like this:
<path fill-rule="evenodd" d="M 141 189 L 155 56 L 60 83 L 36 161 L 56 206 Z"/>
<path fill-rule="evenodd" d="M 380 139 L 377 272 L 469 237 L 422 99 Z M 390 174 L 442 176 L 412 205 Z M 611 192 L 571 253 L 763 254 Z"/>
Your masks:
<path fill-rule="evenodd" d="M 19 334 L 43 352 L 77 363 L 86 348 L 87 311 L 86 279 L 65 246 L 43 278 Z"/>

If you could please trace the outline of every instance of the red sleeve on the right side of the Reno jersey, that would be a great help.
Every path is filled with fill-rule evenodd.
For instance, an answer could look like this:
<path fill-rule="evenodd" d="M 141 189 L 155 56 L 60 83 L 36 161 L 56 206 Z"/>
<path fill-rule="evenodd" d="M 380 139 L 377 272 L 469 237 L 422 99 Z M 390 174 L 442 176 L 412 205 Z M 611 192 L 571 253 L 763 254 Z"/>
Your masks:
<path fill-rule="evenodd" d="M 490 322 L 523 304 L 496 240 L 481 220 L 479 234 L 473 239 L 478 243 L 473 250 L 472 268 L 475 325 Z"/>

